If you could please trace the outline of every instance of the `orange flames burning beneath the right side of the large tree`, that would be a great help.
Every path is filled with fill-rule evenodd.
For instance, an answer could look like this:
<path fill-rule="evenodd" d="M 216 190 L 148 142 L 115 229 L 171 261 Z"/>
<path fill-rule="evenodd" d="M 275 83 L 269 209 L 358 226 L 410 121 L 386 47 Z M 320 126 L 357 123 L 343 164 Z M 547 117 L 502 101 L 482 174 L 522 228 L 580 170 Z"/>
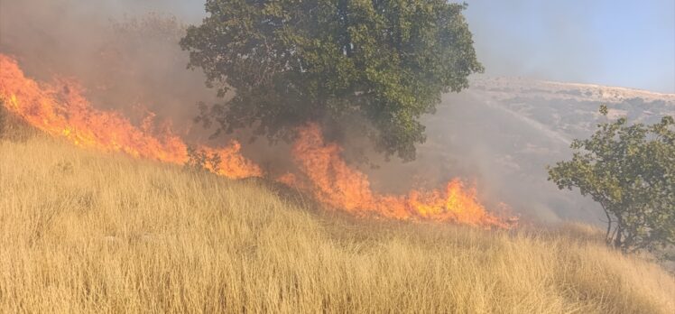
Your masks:
<path fill-rule="evenodd" d="M 338 144 L 324 142 L 319 125 L 299 128 L 292 153 L 311 184 L 302 185 L 295 176 L 284 176 L 282 181 L 356 216 L 504 228 L 514 224 L 514 218 L 502 219 L 488 213 L 477 200 L 476 189 L 465 187 L 458 179 L 450 180 L 445 189 L 412 190 L 405 196 L 378 194 L 370 188 L 363 172 L 350 168 L 340 157 L 341 151 Z"/>

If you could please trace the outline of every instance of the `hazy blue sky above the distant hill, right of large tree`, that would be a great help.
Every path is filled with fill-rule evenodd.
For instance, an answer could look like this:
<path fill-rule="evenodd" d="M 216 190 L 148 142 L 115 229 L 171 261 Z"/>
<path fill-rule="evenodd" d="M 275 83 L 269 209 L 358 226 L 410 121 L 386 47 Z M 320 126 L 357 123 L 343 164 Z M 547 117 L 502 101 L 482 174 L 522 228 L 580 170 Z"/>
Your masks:
<path fill-rule="evenodd" d="M 675 93 L 675 1 L 467 0 L 485 73 Z"/>

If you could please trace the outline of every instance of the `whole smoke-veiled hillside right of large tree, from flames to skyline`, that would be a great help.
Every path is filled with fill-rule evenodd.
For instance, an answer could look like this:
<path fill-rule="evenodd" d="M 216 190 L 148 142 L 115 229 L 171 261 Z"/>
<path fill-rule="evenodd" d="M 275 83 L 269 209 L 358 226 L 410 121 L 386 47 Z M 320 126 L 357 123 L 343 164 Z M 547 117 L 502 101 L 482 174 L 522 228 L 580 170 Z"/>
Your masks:
<path fill-rule="evenodd" d="M 418 160 L 371 171 L 379 178 L 374 184 L 396 189 L 389 182 L 401 173 L 429 185 L 461 175 L 476 180 L 492 208 L 505 202 L 537 220 L 601 224 L 600 208 L 578 190 L 557 189 L 547 180 L 546 166 L 569 159 L 569 143 L 606 121 L 600 105 L 609 107 L 610 118 L 627 116 L 635 123 L 675 115 L 675 94 L 527 78 L 481 77 L 470 85 L 445 95 L 437 113 L 425 118 L 428 141 Z"/>

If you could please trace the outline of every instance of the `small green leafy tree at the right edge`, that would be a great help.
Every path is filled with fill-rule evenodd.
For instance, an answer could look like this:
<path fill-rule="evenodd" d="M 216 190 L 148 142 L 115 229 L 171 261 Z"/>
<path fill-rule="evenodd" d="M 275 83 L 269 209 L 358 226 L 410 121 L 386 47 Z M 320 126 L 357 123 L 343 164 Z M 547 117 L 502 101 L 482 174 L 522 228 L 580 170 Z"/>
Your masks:
<path fill-rule="evenodd" d="M 608 244 L 624 252 L 675 245 L 674 125 L 672 116 L 654 125 L 628 125 L 625 117 L 597 125 L 596 134 L 571 144 L 571 161 L 549 167 L 549 180 L 600 204 Z"/>

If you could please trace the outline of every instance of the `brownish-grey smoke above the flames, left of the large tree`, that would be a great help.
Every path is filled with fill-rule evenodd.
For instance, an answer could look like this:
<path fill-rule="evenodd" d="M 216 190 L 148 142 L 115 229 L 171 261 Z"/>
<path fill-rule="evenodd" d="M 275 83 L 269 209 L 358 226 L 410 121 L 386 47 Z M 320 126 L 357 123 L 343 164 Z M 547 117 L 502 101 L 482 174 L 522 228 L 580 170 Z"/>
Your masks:
<path fill-rule="evenodd" d="M 99 108 L 142 118 L 171 119 L 194 132 L 199 101 L 213 101 L 199 71 L 186 70 L 178 42 L 183 21 L 195 20 L 181 1 L 24 0 L 0 3 L 0 51 L 27 74 L 77 78 Z M 199 132 L 198 132 L 199 133 Z M 204 134 L 200 134 L 204 137 Z"/>

